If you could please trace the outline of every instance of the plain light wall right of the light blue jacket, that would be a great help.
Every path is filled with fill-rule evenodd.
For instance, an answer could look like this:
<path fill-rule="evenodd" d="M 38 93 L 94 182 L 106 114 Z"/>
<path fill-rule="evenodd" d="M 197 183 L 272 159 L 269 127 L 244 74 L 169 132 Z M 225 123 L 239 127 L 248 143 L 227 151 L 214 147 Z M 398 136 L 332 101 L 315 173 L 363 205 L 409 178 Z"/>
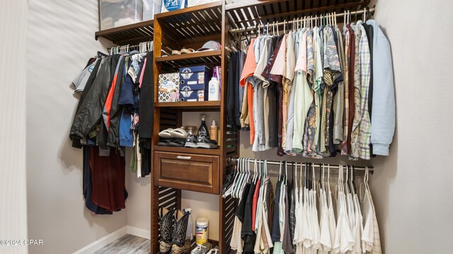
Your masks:
<path fill-rule="evenodd" d="M 390 156 L 371 179 L 386 253 L 452 252 L 452 11 L 452 1 L 377 1 L 397 108 Z"/>

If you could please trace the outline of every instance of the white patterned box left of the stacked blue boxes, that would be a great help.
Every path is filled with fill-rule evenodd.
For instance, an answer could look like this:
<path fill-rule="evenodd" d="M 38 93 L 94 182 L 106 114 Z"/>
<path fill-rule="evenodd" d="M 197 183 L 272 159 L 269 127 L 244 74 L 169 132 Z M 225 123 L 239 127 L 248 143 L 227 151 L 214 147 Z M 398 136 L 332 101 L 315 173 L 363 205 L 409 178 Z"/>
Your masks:
<path fill-rule="evenodd" d="M 179 101 L 179 73 L 159 74 L 159 97 L 157 101 Z"/>

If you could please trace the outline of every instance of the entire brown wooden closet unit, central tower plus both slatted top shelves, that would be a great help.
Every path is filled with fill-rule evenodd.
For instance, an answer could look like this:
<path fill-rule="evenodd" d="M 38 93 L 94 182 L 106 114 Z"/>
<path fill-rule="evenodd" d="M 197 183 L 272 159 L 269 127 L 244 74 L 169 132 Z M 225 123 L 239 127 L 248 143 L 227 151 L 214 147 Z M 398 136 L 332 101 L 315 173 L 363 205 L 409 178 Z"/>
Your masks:
<path fill-rule="evenodd" d="M 222 93 L 218 102 L 157 102 L 154 97 L 154 126 L 151 145 L 153 158 L 151 181 L 151 253 L 159 253 L 159 207 L 181 208 L 181 190 L 211 193 L 219 197 L 219 249 L 222 254 L 234 253 L 229 247 L 233 231 L 236 201 L 222 198 L 222 183 L 228 157 L 239 155 L 239 133 L 226 126 L 226 90 L 228 54 L 225 46 L 233 39 L 229 30 L 254 27 L 261 23 L 292 20 L 336 11 L 355 11 L 366 7 L 369 0 L 222 0 L 210 4 L 159 13 L 154 20 L 96 32 L 115 44 L 137 44 L 154 40 L 154 95 L 158 94 L 160 73 L 178 71 L 183 66 L 222 66 Z M 247 30 L 250 35 L 254 30 Z M 171 50 L 199 49 L 209 41 L 222 44 L 217 51 L 162 56 Z M 149 61 L 149 60 L 148 60 Z M 221 146 L 206 150 L 158 146 L 159 132 L 182 126 L 186 111 L 219 111 Z M 164 167 L 162 166 L 164 165 Z M 198 177 L 196 172 L 202 177 Z"/>

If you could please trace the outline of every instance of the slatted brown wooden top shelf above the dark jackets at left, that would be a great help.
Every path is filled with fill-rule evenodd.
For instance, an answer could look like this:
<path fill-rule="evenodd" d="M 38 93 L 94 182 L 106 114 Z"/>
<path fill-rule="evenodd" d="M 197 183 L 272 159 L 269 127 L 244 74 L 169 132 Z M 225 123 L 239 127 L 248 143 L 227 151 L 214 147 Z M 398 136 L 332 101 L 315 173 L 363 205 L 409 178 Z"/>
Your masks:
<path fill-rule="evenodd" d="M 95 33 L 94 37 L 98 40 L 103 37 L 110 42 L 118 45 L 139 44 L 153 40 L 154 20 L 146 20 L 131 25 L 123 25 L 118 28 L 110 28 Z"/>

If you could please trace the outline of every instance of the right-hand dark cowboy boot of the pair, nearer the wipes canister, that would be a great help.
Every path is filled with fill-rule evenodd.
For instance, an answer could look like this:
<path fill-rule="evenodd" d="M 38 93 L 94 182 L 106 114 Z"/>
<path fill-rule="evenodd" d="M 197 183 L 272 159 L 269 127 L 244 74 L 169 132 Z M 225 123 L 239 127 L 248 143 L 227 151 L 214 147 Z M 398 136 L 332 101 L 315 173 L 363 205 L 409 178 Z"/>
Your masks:
<path fill-rule="evenodd" d="M 185 238 L 189 215 L 190 212 L 183 214 L 180 210 L 178 210 L 176 214 L 176 219 L 173 224 L 173 233 L 171 234 L 171 238 L 173 239 L 171 254 L 184 254 L 188 253 L 190 250 L 190 240 Z"/>

